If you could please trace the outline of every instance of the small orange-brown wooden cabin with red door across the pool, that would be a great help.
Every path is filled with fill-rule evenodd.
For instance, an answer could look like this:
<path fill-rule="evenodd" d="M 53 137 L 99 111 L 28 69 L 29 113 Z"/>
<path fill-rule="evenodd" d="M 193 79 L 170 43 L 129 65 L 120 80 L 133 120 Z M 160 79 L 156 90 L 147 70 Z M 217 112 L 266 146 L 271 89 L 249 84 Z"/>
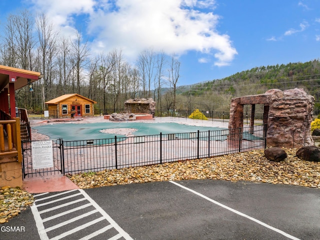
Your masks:
<path fill-rule="evenodd" d="M 76 93 L 64 94 L 45 102 L 50 117 L 85 117 L 93 116 L 95 101 Z"/>

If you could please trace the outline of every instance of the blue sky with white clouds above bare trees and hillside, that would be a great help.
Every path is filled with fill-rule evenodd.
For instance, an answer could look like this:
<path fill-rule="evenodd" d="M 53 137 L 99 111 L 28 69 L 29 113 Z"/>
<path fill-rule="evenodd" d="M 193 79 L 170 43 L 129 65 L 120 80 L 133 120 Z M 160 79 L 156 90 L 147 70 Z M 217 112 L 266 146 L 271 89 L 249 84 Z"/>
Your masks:
<path fill-rule="evenodd" d="M 177 54 L 178 85 L 320 56 L 317 0 L 1 0 L 1 23 L 23 9 L 67 37 L 77 29 L 92 54 L 117 48 L 132 63 L 144 49 Z"/>

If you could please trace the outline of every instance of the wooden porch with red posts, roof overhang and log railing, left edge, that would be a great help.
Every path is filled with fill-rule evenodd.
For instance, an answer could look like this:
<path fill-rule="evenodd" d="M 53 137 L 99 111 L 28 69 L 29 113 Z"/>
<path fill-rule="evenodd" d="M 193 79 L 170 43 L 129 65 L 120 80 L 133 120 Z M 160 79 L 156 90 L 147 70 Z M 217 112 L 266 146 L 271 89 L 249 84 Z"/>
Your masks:
<path fill-rule="evenodd" d="M 0 187 L 22 186 L 20 118 L 15 112 L 15 90 L 42 76 L 38 72 L 0 65 Z M 26 110 L 25 110 L 26 112 Z M 21 120 L 27 119 L 27 114 Z"/>

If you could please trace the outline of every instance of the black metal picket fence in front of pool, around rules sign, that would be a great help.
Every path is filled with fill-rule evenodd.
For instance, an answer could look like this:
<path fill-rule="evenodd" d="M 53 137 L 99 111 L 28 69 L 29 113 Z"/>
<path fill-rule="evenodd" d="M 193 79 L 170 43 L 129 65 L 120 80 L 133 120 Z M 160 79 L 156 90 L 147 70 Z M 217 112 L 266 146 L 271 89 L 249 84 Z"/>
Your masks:
<path fill-rule="evenodd" d="M 199 159 L 265 148 L 265 126 L 170 133 L 134 137 L 63 141 L 54 140 L 54 169 L 33 171 L 30 142 L 23 146 L 23 176 L 28 174 L 96 172 Z M 60 149 L 60 153 L 59 150 Z M 60 167 L 61 166 L 61 167 Z"/>

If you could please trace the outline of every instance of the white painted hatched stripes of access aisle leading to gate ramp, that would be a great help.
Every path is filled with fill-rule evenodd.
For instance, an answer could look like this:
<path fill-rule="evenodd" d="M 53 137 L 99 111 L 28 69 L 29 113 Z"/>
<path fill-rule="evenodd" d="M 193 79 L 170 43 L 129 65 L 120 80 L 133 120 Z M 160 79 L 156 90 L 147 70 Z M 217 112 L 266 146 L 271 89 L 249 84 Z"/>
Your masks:
<path fill-rule="evenodd" d="M 61 196 L 61 195 L 64 195 L 64 194 L 67 194 L 67 193 L 71 193 L 71 192 L 74 192 L 74 194 L 71 194 L 71 195 L 68 195 L 68 196 L 64 196 L 64 197 L 61 197 L 61 198 L 58 198 L 56 200 L 50 200 L 50 198 L 54 198 L 56 196 Z M 48 193 L 41 193 L 41 194 L 38 194 L 38 195 L 35 195 L 35 197 L 37 196 L 43 196 L 45 194 L 48 194 Z M 70 201 L 70 202 L 67 202 L 67 203 L 63 203 L 63 204 L 60 204 L 60 205 L 57 205 L 57 206 L 54 206 L 54 207 L 50 207 L 50 208 L 47 208 L 47 209 L 43 209 L 41 211 L 38 211 L 38 208 L 39 206 L 46 206 L 49 204 L 52 204 L 52 203 L 56 203 L 58 201 L 61 201 L 61 200 L 66 200 L 66 199 L 69 199 L 73 196 L 78 196 L 78 195 L 81 195 L 82 197 L 80 199 L 77 199 L 77 200 L 73 200 L 73 201 Z M 37 202 L 42 202 L 43 200 L 48 200 L 47 202 L 43 202 L 43 203 L 39 203 L 39 204 L 36 204 Z M 64 212 L 61 212 L 61 213 L 58 213 L 58 214 L 55 214 L 55 215 L 52 215 L 52 216 L 48 216 L 46 218 L 41 218 L 41 213 L 45 213 L 45 212 L 50 212 L 50 211 L 53 211 L 55 209 L 58 209 L 58 208 L 61 208 L 63 206 L 68 206 L 68 205 L 72 205 L 73 203 L 77 203 L 77 202 L 81 202 L 81 201 L 84 201 L 86 200 L 86 202 L 84 202 L 83 205 L 81 206 L 77 206 L 77 207 L 74 207 L 72 209 L 69 209 L 67 211 L 64 211 Z M 87 203 L 89 202 L 89 203 Z M 52 220 L 52 219 L 58 219 L 58 217 L 61 217 L 65 214 L 69 214 L 69 213 L 72 213 L 72 212 L 75 212 L 77 210 L 81 210 L 81 209 L 84 209 L 86 207 L 94 207 L 93 210 L 90 210 L 86 213 L 82 213 L 82 214 L 79 214 L 77 215 L 76 213 L 74 214 L 74 217 L 72 217 L 71 219 L 69 220 L 66 220 L 66 221 L 63 221 L 63 222 L 60 222 L 58 224 L 55 224 L 55 225 L 52 225 L 50 227 L 47 227 L 45 228 L 45 226 L 43 225 L 43 222 L 46 222 L 46 221 L 49 221 L 49 220 Z M 40 239 L 41 240 L 49 240 L 49 239 L 52 239 L 52 240 L 58 240 L 58 239 L 61 239 L 63 237 L 66 237 L 70 234 L 73 234 L 73 233 L 76 233 L 77 231 L 79 230 L 82 230 L 83 228 L 86 228 L 86 227 L 89 227 L 95 223 L 98 223 L 100 221 L 105 221 L 107 220 L 109 224 L 105 225 L 103 227 L 101 227 L 100 229 L 94 231 L 94 232 L 91 232 L 89 233 L 88 235 L 82 237 L 81 239 L 84 240 L 84 239 L 90 239 L 92 237 L 95 237 L 105 231 L 107 231 L 108 229 L 110 228 L 114 228 L 117 230 L 117 234 L 115 234 L 114 236 L 112 236 L 111 238 L 109 238 L 109 240 L 116 240 L 118 238 L 121 238 L 123 237 L 124 239 L 127 239 L 127 240 L 133 240 L 85 191 L 83 191 L 82 189 L 76 189 L 76 190 L 70 190 L 70 191 L 65 191 L 65 192 L 61 192 L 61 193 L 57 193 L 57 194 L 52 194 L 50 196 L 47 196 L 47 197 L 42 197 L 42 198 L 39 198 L 39 199 L 36 199 L 35 200 L 35 205 L 31 206 L 31 211 L 32 211 L 32 214 L 33 214 L 33 217 L 35 219 L 35 222 L 36 222 L 36 227 L 37 227 L 37 230 L 38 230 L 38 234 L 40 236 Z M 72 224 L 73 222 L 81 219 L 81 218 L 85 218 L 89 215 L 92 215 L 94 213 L 97 213 L 99 212 L 100 216 L 99 217 L 96 217 L 95 219 L 89 221 L 89 222 L 86 222 L 84 224 L 81 224 L 81 225 L 72 225 L 72 229 L 68 230 L 68 231 L 65 231 L 65 232 L 60 232 L 59 235 L 56 235 L 56 236 L 53 236 L 52 238 L 49 238 L 48 235 L 47 235 L 47 232 L 53 230 L 53 229 L 57 229 L 59 227 L 62 227 L 62 226 L 65 226 L 67 224 Z M 53 212 L 52 212 L 53 213 Z M 102 223 L 102 222 L 101 222 Z M 71 225 L 70 225 L 71 226 Z"/>

